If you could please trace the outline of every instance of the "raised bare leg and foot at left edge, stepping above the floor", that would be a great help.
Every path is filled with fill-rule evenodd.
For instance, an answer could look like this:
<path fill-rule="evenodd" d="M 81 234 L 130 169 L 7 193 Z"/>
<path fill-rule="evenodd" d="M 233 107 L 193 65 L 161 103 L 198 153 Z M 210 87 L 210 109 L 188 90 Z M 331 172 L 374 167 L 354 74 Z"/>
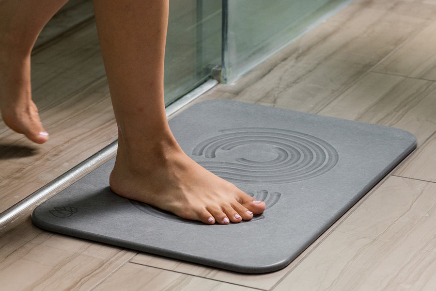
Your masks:
<path fill-rule="evenodd" d="M 48 140 L 31 99 L 31 50 L 47 21 L 67 0 L 0 0 L 0 109 L 11 129 Z"/>

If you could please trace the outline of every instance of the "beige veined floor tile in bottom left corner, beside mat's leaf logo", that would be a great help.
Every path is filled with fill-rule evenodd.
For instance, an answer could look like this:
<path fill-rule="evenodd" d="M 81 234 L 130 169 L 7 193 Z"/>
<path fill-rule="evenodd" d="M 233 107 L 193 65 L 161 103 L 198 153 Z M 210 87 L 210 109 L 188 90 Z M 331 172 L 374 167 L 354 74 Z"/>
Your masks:
<path fill-rule="evenodd" d="M 28 216 L 0 236 L 0 290 L 91 290 L 135 254 L 43 231 Z"/>

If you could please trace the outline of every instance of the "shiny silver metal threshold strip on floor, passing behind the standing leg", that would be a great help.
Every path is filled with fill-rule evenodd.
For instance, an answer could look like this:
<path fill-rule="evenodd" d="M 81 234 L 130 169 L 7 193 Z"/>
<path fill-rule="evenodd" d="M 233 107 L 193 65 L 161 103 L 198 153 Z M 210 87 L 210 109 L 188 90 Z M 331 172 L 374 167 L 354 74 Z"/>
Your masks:
<path fill-rule="evenodd" d="M 184 106 L 186 106 L 188 103 L 192 102 L 196 98 L 200 97 L 203 93 L 209 91 L 212 89 L 215 85 L 218 84 L 217 80 L 210 79 L 208 81 L 205 81 L 202 83 L 199 87 L 195 88 L 191 92 L 187 93 L 185 96 L 179 98 L 174 103 L 169 105 L 165 112 L 167 113 L 167 117 L 170 117 L 172 114 L 176 113 L 177 111 L 181 110 Z M 42 200 L 44 197 L 46 197 L 48 194 L 52 193 L 56 189 L 59 189 L 67 183 L 68 181 L 78 177 L 80 174 L 85 172 L 87 169 L 95 165 L 96 163 L 106 159 L 111 154 L 115 153 L 117 150 L 118 141 L 114 141 L 109 146 L 106 146 L 105 148 L 101 149 L 85 161 L 79 163 L 77 166 L 73 167 L 72 169 L 68 170 L 67 172 L 63 173 L 58 178 L 55 178 L 53 181 L 49 182 L 44 187 L 38 189 L 37 191 L 33 192 L 29 196 L 27 196 L 25 199 L 21 200 L 20 202 L 16 203 L 15 205 L 11 206 L 7 210 L 0 213 L 0 230 L 3 228 L 3 226 L 6 225 L 6 223 L 12 221 L 14 217 L 16 217 L 18 214 L 23 212 L 26 209 L 31 208 L 32 205 L 34 205 L 36 202 Z"/>

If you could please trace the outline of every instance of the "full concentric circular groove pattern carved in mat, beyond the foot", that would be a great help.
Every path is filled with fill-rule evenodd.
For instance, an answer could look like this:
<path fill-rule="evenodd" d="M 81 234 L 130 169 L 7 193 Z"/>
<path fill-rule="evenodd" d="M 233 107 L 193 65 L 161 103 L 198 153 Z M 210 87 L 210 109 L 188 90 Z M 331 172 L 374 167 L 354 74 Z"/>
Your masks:
<path fill-rule="evenodd" d="M 199 163 L 230 182 L 282 184 L 302 181 L 326 173 L 339 160 L 333 146 L 302 132 L 273 128 L 237 128 L 220 132 L 222 134 L 197 145 L 193 155 L 211 159 Z M 244 157 L 232 162 L 218 161 L 218 150 L 228 151 L 253 144 L 270 146 L 276 157 L 268 161 Z"/>

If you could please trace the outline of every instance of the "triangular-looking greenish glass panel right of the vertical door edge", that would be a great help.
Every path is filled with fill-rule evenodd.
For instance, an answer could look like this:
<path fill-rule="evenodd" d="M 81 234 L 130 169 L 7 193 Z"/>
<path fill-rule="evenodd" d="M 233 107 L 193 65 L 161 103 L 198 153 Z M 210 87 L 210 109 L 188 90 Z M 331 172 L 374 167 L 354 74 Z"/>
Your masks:
<path fill-rule="evenodd" d="M 221 82 L 231 83 L 352 0 L 223 0 Z"/>

